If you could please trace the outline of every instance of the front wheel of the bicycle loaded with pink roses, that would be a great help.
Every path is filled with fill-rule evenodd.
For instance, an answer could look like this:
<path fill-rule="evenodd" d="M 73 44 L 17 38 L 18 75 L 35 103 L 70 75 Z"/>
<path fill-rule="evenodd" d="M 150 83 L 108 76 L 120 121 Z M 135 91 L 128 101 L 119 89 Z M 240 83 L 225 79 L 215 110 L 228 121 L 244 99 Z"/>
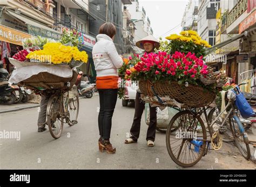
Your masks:
<path fill-rule="evenodd" d="M 231 131 L 234 136 L 235 145 L 239 149 L 242 156 L 245 159 L 250 159 L 251 151 L 249 146 L 249 140 L 245 133 L 244 127 L 242 126 L 239 118 L 236 115 L 233 115 L 229 118 Z"/>

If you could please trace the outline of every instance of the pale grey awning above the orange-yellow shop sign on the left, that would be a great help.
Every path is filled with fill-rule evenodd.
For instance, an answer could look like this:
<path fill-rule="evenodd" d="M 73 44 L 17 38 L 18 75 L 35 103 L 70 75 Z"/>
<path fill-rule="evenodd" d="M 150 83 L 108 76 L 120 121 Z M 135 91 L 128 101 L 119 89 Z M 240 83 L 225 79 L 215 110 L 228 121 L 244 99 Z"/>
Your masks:
<path fill-rule="evenodd" d="M 43 24 L 37 23 L 29 18 L 26 18 L 22 15 L 18 15 L 15 12 L 6 10 L 6 13 L 12 17 L 18 18 L 28 25 L 29 34 L 32 35 L 41 35 L 42 37 L 52 38 L 58 40 L 60 38 L 60 33 L 58 31 L 53 30 Z"/>

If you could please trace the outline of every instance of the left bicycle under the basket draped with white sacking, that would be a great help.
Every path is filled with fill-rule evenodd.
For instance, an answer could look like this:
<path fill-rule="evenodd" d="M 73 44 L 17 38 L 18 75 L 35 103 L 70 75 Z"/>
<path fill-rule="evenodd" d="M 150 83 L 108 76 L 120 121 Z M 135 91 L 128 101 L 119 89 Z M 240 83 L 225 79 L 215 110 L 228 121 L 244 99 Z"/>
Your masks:
<path fill-rule="evenodd" d="M 72 89 L 77 88 L 73 87 Z M 55 139 L 58 139 L 62 134 L 63 123 L 69 126 L 77 124 L 79 98 L 78 94 L 73 95 L 73 90 L 64 88 L 51 91 L 46 110 L 46 121 L 49 131 Z"/>

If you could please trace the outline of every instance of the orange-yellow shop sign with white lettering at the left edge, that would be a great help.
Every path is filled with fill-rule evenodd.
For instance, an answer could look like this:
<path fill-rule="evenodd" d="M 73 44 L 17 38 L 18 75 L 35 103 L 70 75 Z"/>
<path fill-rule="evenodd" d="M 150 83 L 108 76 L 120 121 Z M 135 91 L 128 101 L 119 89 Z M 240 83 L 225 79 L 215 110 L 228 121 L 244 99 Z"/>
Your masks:
<path fill-rule="evenodd" d="M 0 25 L 0 40 L 22 46 L 25 38 L 31 38 L 30 34 L 14 30 L 10 27 Z"/>

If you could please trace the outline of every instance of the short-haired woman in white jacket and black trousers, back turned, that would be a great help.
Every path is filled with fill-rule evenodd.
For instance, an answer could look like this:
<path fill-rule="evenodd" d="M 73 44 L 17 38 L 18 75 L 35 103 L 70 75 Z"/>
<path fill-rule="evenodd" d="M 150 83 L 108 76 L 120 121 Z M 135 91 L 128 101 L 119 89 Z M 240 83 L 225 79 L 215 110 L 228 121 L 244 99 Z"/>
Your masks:
<path fill-rule="evenodd" d="M 116 27 L 111 23 L 105 23 L 99 28 L 97 42 L 92 49 L 93 62 L 96 69 L 96 88 L 99 92 L 99 116 L 98 140 L 99 150 L 107 153 L 115 153 L 110 143 L 112 116 L 117 102 L 118 73 L 117 69 L 123 66 L 123 59 L 117 53 L 113 39 L 116 35 Z"/>

